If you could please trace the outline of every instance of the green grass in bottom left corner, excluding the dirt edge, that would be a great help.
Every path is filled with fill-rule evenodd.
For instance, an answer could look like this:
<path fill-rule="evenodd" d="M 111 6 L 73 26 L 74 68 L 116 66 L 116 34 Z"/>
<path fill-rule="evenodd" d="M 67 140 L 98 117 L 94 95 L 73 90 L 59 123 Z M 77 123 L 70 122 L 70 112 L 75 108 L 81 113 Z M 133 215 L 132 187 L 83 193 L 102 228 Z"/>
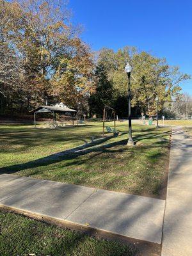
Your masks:
<path fill-rule="evenodd" d="M 81 232 L 0 211 L 0 255 L 136 256 L 138 250 L 132 245 L 95 239 Z"/>

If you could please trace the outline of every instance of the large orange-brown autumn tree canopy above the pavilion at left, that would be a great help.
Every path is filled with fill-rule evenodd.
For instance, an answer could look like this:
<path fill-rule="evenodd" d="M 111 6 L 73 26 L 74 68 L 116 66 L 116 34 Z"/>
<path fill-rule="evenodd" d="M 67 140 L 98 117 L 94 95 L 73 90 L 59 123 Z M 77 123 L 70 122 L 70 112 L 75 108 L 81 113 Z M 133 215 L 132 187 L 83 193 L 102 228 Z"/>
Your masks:
<path fill-rule="evenodd" d="M 10 105 L 76 107 L 93 92 L 92 52 L 65 2 L 0 0 L 0 20 L 0 90 Z"/>

